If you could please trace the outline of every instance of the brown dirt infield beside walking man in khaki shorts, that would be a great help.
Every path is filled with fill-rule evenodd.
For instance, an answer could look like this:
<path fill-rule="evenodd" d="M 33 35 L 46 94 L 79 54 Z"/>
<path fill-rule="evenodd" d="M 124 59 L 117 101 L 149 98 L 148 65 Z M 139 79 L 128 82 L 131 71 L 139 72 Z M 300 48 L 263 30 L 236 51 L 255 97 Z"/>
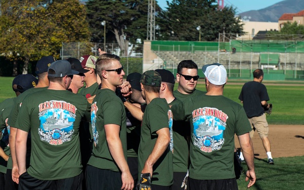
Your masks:
<path fill-rule="evenodd" d="M 269 125 L 269 136 L 273 158 L 304 156 L 304 125 Z M 262 140 L 257 131 L 252 138 L 254 156 L 267 158 Z M 240 148 L 239 140 L 235 138 L 236 148 Z"/>

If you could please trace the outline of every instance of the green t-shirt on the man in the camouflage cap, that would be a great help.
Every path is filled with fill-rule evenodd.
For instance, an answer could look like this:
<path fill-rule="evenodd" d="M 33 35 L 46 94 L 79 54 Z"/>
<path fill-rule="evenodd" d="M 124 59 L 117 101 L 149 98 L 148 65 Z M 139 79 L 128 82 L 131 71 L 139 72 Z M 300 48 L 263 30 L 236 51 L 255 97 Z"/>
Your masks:
<path fill-rule="evenodd" d="M 145 108 L 142 124 L 141 135 L 138 149 L 138 178 L 144 167 L 144 163 L 155 146 L 158 138 L 157 131 L 163 128 L 172 128 L 172 112 L 166 99 L 155 98 Z M 153 166 L 152 184 L 169 186 L 173 183 L 173 165 L 172 165 L 172 139 L 170 145 L 164 154 Z"/>

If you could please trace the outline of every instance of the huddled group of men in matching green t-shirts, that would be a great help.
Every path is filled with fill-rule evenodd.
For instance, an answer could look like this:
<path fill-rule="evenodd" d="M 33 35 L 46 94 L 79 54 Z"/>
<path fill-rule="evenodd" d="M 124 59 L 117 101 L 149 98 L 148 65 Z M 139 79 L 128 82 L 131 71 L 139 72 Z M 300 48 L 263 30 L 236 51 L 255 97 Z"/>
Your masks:
<path fill-rule="evenodd" d="M 235 133 L 253 185 L 251 128 L 243 108 L 222 96 L 222 65 L 203 67 L 206 93 L 196 90 L 192 60 L 178 64 L 175 91 L 169 70 L 131 73 L 124 82 L 116 55 L 74 61 L 42 58 L 38 85 L 14 100 L 7 125 L 20 189 L 136 189 L 141 174 L 152 189 L 237 189 Z"/>

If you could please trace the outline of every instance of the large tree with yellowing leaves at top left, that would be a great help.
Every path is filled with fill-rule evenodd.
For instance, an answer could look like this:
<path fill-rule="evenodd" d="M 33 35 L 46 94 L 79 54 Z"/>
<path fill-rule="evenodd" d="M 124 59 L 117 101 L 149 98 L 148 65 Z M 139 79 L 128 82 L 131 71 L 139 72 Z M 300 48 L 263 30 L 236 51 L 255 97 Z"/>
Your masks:
<path fill-rule="evenodd" d="M 1 3 L 0 40 L 4 45 L 0 52 L 14 62 L 23 60 L 23 73 L 27 73 L 30 60 L 47 55 L 59 58 L 62 42 L 86 41 L 89 37 L 86 12 L 77 0 Z"/>

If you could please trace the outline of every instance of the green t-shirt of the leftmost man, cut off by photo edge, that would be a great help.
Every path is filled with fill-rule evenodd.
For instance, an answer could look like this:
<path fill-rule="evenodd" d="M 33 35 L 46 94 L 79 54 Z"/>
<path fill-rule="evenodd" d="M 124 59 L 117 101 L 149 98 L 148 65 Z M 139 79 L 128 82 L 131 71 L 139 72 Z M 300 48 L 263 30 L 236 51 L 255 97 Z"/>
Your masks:
<path fill-rule="evenodd" d="M 2 135 L 0 137 L 0 146 L 4 150 L 5 154 L 9 156 L 11 155 L 9 142 L 10 126 L 7 124 L 7 122 L 12 109 L 12 105 L 14 104 L 14 99 L 15 98 L 9 98 L 0 103 L 0 131 L 2 131 Z M 2 157 L 0 157 L 0 172 L 6 173 L 7 166 L 12 167 L 12 159 L 9 159 L 7 162 Z"/>

